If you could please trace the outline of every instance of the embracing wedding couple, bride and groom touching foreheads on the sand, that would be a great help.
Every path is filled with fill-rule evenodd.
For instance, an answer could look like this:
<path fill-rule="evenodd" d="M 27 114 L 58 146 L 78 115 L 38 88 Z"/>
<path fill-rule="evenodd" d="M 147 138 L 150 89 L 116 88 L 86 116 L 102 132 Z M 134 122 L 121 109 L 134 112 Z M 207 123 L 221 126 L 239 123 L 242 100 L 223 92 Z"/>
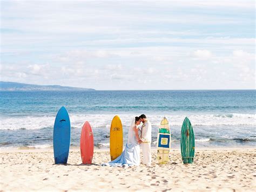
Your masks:
<path fill-rule="evenodd" d="M 139 127 L 140 123 L 143 123 Z M 143 153 L 143 164 L 151 166 L 151 123 L 146 115 L 136 116 L 129 128 L 128 140 L 123 153 L 117 159 L 104 163 L 109 166 L 139 166 L 140 147 Z"/>

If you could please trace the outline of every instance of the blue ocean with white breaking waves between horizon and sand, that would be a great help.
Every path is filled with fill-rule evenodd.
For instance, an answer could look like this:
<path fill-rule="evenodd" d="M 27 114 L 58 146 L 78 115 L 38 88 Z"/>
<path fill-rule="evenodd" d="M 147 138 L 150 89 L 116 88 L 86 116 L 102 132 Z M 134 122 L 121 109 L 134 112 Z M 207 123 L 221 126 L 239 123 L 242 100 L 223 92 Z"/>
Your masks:
<path fill-rule="evenodd" d="M 172 148 L 180 147 L 185 116 L 194 129 L 196 147 L 255 147 L 256 91 L 33 91 L 0 92 L 0 149 L 52 147 L 55 116 L 65 106 L 71 120 L 71 147 L 89 121 L 95 147 L 109 147 L 110 124 L 119 115 L 124 145 L 132 118 L 145 114 L 152 124 L 152 147 L 165 116 Z"/>

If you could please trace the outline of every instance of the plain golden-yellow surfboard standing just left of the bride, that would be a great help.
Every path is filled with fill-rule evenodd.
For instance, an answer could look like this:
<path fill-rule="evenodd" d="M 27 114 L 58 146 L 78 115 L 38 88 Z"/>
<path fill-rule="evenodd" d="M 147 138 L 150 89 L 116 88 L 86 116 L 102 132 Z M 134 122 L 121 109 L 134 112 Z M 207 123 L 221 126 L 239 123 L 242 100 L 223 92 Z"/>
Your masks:
<path fill-rule="evenodd" d="M 110 157 L 111 161 L 123 152 L 123 126 L 118 115 L 114 116 L 110 126 Z"/>

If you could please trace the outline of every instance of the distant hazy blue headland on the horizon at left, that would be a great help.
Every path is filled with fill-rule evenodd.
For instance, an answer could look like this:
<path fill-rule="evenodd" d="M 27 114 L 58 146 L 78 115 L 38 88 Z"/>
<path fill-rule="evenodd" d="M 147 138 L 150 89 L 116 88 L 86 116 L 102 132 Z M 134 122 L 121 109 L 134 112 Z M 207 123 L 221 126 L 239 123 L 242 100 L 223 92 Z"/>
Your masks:
<path fill-rule="evenodd" d="M 66 87 L 60 85 L 33 85 L 0 81 L 0 91 L 96 91 L 93 88 Z"/>

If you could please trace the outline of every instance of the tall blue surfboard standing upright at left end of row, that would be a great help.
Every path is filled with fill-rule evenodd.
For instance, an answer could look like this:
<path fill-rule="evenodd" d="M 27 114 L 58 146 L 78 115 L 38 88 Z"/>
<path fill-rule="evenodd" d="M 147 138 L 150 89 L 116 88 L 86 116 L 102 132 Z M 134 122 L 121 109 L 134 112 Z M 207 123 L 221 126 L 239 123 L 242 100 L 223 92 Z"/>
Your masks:
<path fill-rule="evenodd" d="M 55 163 L 66 163 L 69 157 L 71 126 L 65 107 L 59 109 L 53 128 L 53 152 Z"/>

